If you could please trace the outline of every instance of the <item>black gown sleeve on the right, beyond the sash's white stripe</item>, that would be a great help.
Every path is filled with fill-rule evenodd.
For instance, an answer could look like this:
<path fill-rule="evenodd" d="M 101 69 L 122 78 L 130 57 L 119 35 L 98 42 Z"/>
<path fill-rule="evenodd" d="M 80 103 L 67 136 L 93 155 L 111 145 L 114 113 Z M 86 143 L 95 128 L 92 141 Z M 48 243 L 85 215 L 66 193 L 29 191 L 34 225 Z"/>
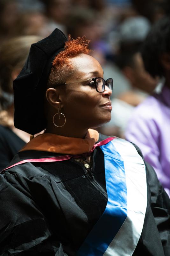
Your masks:
<path fill-rule="evenodd" d="M 132 143 L 133 144 L 133 143 Z M 140 149 L 135 145 L 139 155 L 143 158 Z M 145 161 L 144 161 L 145 162 Z M 159 236 L 162 242 L 165 256 L 170 255 L 170 234 L 169 234 L 169 196 L 161 186 L 153 167 L 145 162 L 148 198 L 150 200 L 152 213 Z"/>

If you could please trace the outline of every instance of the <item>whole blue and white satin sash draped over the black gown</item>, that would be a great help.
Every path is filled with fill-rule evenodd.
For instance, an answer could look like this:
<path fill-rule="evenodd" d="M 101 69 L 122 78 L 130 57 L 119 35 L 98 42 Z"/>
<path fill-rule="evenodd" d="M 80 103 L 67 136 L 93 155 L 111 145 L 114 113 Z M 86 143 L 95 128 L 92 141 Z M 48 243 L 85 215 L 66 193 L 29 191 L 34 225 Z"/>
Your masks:
<path fill-rule="evenodd" d="M 104 153 L 108 202 L 77 256 L 131 256 L 146 212 L 145 164 L 126 140 L 116 138 L 100 148 Z"/>

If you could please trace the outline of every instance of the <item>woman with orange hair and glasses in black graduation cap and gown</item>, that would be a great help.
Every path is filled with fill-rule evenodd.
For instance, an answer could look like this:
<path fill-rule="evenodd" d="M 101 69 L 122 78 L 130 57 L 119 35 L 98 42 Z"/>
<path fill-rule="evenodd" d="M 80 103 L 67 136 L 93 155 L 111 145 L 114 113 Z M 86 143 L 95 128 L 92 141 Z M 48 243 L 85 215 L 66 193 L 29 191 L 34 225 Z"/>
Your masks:
<path fill-rule="evenodd" d="M 110 120 L 112 79 L 87 46 L 55 29 L 14 81 L 15 126 L 45 132 L 0 175 L 0 255 L 168 255 L 168 197 L 152 167 L 89 129 Z"/>

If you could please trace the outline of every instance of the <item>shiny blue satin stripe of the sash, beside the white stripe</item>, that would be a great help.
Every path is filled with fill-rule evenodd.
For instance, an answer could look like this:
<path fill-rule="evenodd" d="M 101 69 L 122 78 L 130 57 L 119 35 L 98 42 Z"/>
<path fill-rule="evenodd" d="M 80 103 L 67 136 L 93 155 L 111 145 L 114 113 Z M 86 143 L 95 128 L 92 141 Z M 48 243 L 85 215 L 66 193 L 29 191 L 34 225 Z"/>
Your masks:
<path fill-rule="evenodd" d="M 102 256 L 127 217 L 124 162 L 113 142 L 100 147 L 104 153 L 108 202 L 101 218 L 86 237 L 77 256 Z"/>

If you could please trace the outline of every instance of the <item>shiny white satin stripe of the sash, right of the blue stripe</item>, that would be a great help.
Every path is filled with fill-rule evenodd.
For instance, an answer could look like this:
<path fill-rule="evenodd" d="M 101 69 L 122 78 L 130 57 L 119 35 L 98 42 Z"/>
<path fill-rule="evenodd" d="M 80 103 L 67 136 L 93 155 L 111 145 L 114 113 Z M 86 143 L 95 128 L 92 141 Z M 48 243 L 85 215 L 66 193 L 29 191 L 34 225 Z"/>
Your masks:
<path fill-rule="evenodd" d="M 142 232 L 147 206 L 145 164 L 130 142 L 114 139 L 110 143 L 124 160 L 128 216 L 103 256 L 131 256 Z"/>

